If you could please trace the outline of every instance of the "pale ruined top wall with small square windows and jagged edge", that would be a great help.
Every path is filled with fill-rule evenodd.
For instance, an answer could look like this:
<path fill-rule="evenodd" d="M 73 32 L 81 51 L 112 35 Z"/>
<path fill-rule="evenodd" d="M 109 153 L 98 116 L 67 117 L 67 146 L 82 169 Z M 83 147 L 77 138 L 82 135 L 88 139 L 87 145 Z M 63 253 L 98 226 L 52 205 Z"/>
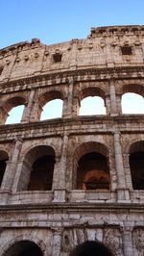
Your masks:
<path fill-rule="evenodd" d="M 85 39 L 46 45 L 38 38 L 0 50 L 0 83 L 86 68 L 142 66 L 144 26 L 92 28 Z"/>

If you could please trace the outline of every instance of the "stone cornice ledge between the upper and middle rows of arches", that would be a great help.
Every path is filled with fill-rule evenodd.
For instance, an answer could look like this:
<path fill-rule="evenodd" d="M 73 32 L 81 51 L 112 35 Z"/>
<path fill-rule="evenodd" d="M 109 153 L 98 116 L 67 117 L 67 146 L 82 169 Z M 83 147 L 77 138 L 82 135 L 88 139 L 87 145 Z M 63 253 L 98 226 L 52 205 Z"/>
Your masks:
<path fill-rule="evenodd" d="M 133 123 L 138 123 L 139 120 L 141 124 L 144 123 L 144 115 L 87 115 L 76 116 L 75 118 L 56 118 L 30 123 L 0 125 L 0 141 L 13 141 L 15 134 L 18 134 L 23 140 L 62 137 L 64 131 L 70 136 L 84 134 L 112 134 L 113 126 L 118 126 L 119 131 L 123 134 L 144 134 L 144 129 L 139 128 L 138 125 L 136 127 L 132 126 Z M 124 123 L 126 123 L 125 127 Z M 129 129 L 127 128 L 128 123 L 131 124 L 131 128 L 129 127 Z M 89 127 L 88 133 L 87 129 L 85 131 L 85 126 Z"/>

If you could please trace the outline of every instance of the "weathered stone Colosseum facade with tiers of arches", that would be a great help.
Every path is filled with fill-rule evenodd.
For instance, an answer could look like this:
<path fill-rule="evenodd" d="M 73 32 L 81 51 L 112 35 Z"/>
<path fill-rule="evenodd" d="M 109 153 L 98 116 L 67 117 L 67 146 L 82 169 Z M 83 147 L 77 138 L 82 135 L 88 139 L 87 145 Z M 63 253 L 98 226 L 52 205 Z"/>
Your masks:
<path fill-rule="evenodd" d="M 144 113 L 123 112 L 127 93 L 144 96 L 144 26 L 0 50 L 0 256 L 144 255 Z M 88 97 L 104 111 L 80 115 Z"/>

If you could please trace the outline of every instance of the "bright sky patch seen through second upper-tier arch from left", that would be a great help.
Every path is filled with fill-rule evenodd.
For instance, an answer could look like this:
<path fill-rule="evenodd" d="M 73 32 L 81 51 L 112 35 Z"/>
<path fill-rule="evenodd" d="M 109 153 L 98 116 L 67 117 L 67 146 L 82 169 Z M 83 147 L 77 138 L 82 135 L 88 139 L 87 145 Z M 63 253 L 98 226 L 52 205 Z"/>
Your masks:
<path fill-rule="evenodd" d="M 58 118 L 62 115 L 63 101 L 61 99 L 54 99 L 46 103 L 41 112 L 40 120 Z"/>

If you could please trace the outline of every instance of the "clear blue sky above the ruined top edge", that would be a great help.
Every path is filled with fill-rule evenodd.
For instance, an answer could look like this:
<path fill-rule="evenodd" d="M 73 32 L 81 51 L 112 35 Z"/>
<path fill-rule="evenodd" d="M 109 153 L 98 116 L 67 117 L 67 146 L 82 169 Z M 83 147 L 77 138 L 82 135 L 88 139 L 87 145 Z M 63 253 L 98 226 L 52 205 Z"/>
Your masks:
<path fill-rule="evenodd" d="M 0 48 L 86 38 L 91 27 L 144 24 L 144 0 L 0 0 Z"/>

